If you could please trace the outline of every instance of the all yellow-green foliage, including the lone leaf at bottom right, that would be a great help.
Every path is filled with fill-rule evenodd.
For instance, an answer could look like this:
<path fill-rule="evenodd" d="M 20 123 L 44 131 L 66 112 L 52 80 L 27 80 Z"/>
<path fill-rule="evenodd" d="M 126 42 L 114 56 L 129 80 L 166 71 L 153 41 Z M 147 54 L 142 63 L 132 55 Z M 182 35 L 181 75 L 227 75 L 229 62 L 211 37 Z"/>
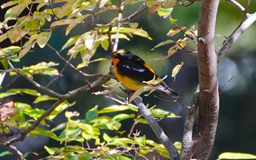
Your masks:
<path fill-rule="evenodd" d="M 151 94 L 154 87 L 140 88 L 127 102 L 127 99 L 114 91 L 116 84 L 105 84 L 110 78 L 114 78 L 113 74 L 98 74 L 92 63 L 108 61 L 108 58 L 99 54 L 99 50 L 108 53 L 116 50 L 118 39 L 129 41 L 136 36 L 152 40 L 140 23 L 134 21 L 142 12 L 168 19 L 170 26 L 173 26 L 166 34 L 170 39 L 151 47 L 151 50 L 164 45 L 168 48 L 166 56 L 154 60 L 164 60 L 180 50 L 197 53 L 197 48 L 193 48 L 193 45 L 197 45 L 195 26 L 178 26 L 177 19 L 171 15 L 173 7 L 177 4 L 187 6 L 192 2 L 194 1 L 19 0 L 1 4 L 1 9 L 6 9 L 6 13 L 4 21 L 0 23 L 0 42 L 9 44 L 0 50 L 0 83 L 10 78 L 11 83 L 15 83 L 15 80 L 22 78 L 31 86 L 8 88 L 1 84 L 4 90 L 0 94 L 0 137 L 5 137 L 1 145 L 10 151 L 2 151 L 0 157 L 8 157 L 12 153 L 17 154 L 19 159 L 28 157 L 31 152 L 20 153 L 14 143 L 22 142 L 31 135 L 48 137 L 52 142 L 59 144 L 45 145 L 43 148 L 48 155 L 39 155 L 42 159 L 126 160 L 138 157 L 148 159 L 147 157 L 153 154 L 169 158 L 170 153 L 164 144 L 148 139 L 135 129 L 138 124 L 148 125 L 148 120 L 143 118 L 138 112 L 138 107 L 130 102 L 144 91 L 150 91 Z M 124 18 L 126 8 L 135 11 Z M 53 34 L 59 29 L 64 29 L 67 38 L 67 41 L 61 44 L 61 50 L 50 44 Z M 181 34 L 181 37 L 175 40 L 173 37 L 177 34 Z M 31 56 L 30 53 L 38 47 L 49 48 L 59 59 L 52 58 L 50 61 L 39 61 L 23 66 L 23 58 Z M 174 67 L 171 75 L 174 80 L 183 65 L 184 62 L 181 61 Z M 67 93 L 61 94 L 58 89 L 54 90 L 50 86 L 66 76 L 64 70 L 67 66 L 84 77 L 86 84 L 69 88 Z M 42 77 L 49 78 L 46 85 L 38 82 L 38 78 Z M 151 85 L 160 82 L 161 80 L 152 80 L 146 83 Z M 105 91 L 99 91 L 102 85 L 107 88 Z M 84 104 L 79 104 L 73 98 L 94 88 L 97 88 L 97 91 L 90 95 L 91 97 L 105 95 L 118 104 L 106 104 L 100 110 L 96 105 L 80 115 L 74 106 L 84 107 Z M 86 107 L 89 106 L 86 104 Z M 154 107 L 148 108 L 148 111 L 151 113 L 150 116 L 159 120 L 180 117 Z M 56 118 L 61 115 L 64 121 L 57 123 Z M 121 127 L 126 120 L 134 122 L 128 130 L 122 130 Z M 175 142 L 174 146 L 176 150 L 181 151 L 181 142 Z M 241 159 L 254 156 L 244 153 L 223 153 L 219 159 L 233 157 Z"/>

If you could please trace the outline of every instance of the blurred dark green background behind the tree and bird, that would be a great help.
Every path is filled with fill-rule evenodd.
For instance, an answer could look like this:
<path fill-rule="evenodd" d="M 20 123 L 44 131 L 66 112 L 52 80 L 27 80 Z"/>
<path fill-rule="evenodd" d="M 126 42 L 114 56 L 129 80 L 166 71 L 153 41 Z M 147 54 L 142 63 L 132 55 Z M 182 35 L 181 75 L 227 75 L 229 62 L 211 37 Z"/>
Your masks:
<path fill-rule="evenodd" d="M 248 1 L 239 1 L 244 7 L 247 6 Z M 139 7 L 139 5 L 137 6 Z M 135 12 L 137 8 L 127 7 L 124 8 L 124 17 Z M 173 9 L 172 18 L 178 19 L 176 22 L 178 26 L 187 26 L 188 28 L 195 25 L 197 26 L 198 15 L 200 11 L 200 2 L 195 2 L 189 7 L 178 7 Z M 1 10 L 1 15 L 4 12 Z M 256 12 L 256 1 L 250 1 L 248 12 Z M 106 16 L 106 15 L 105 15 Z M 227 1 L 220 1 L 219 12 L 217 15 L 217 28 L 216 34 L 216 48 L 222 45 L 225 41 L 225 37 L 229 37 L 230 34 L 239 26 L 242 18 L 244 17 L 243 12 L 241 12 L 233 4 Z M 196 85 L 198 83 L 197 78 L 197 54 L 196 53 L 186 53 L 181 51 L 175 53 L 170 58 L 163 61 L 150 61 L 153 58 L 158 58 L 159 56 L 165 56 L 167 54 L 167 49 L 170 45 L 159 47 L 154 51 L 151 51 L 155 45 L 159 42 L 165 41 L 166 39 L 177 40 L 183 37 L 182 34 L 178 34 L 175 37 L 167 37 L 167 31 L 173 27 L 170 24 L 168 18 L 163 19 L 158 15 L 149 15 L 148 11 L 143 12 L 137 17 L 130 20 L 130 22 L 138 22 L 139 27 L 143 28 L 148 32 L 153 40 L 144 39 L 141 37 L 132 37 L 130 41 L 121 39 L 118 48 L 125 48 L 130 50 L 132 53 L 137 54 L 144 60 L 146 60 L 152 68 L 158 73 L 160 77 L 167 77 L 167 84 L 173 87 L 178 94 L 182 97 L 182 102 L 184 104 L 189 104 L 192 95 L 195 91 Z M 61 27 L 53 31 L 53 35 L 50 39 L 50 45 L 53 45 L 57 50 L 61 50 L 64 42 L 67 41 L 69 37 L 78 35 L 86 31 L 87 26 L 81 25 L 80 27 L 72 30 L 72 33 L 65 37 L 65 28 Z M 222 35 L 222 36 L 219 36 Z M 222 92 L 220 96 L 220 112 L 219 112 L 219 124 L 217 129 L 217 137 L 215 140 L 214 148 L 211 153 L 210 159 L 217 159 L 217 156 L 222 152 L 244 152 L 244 153 L 254 153 L 256 154 L 256 24 L 250 26 L 244 34 L 238 39 L 238 41 L 233 45 L 232 49 L 228 53 L 228 56 L 223 59 L 222 63 L 219 65 L 219 88 Z M 8 42 L 1 44 L 1 47 L 7 46 Z M 195 45 L 192 47 L 195 48 Z M 66 57 L 67 50 L 61 52 L 62 56 Z M 110 51 L 105 51 L 99 48 L 97 54 L 93 59 L 99 57 L 106 57 L 110 54 Z M 62 69 L 64 62 L 60 61 L 59 58 L 53 53 L 53 50 L 45 47 L 43 49 L 35 47 L 31 53 L 28 53 L 23 57 L 21 63 L 14 64 L 15 66 L 29 66 L 31 64 L 36 64 L 39 61 L 55 61 L 60 63 L 59 69 Z M 176 81 L 170 77 L 171 71 L 176 64 L 180 64 L 184 61 L 184 66 L 176 77 Z M 73 59 L 72 64 L 79 64 L 80 59 Z M 75 65 L 76 66 L 76 65 Z M 91 73 L 108 73 L 109 72 L 110 61 L 100 61 L 91 64 L 88 68 L 83 69 L 85 72 Z M 67 93 L 72 89 L 78 88 L 84 85 L 85 82 L 83 77 L 78 75 L 77 72 L 73 71 L 69 67 L 66 67 L 63 73 L 64 76 L 59 78 L 55 83 L 50 85 L 54 91 L 58 91 L 61 94 Z M 232 80 L 230 80 L 230 78 Z M 52 77 L 36 77 L 36 81 L 42 85 L 48 84 Z M 230 80 L 229 82 L 227 82 Z M 115 83 L 114 80 L 111 83 Z M 26 82 L 22 78 L 13 80 L 13 77 L 6 77 L 3 83 L 3 88 L 1 91 L 6 91 L 8 88 L 25 88 L 32 87 L 30 83 Z M 103 88 L 96 88 L 94 91 L 102 91 Z M 117 88 L 118 89 L 118 88 Z M 125 96 L 118 91 L 122 96 Z M 20 100 L 21 96 L 15 96 L 14 99 Z M 24 99 L 22 96 L 22 101 L 29 102 L 31 97 L 27 96 Z M 91 96 L 90 93 L 80 94 L 80 96 L 75 97 L 77 103 L 72 110 L 78 110 L 81 117 L 84 118 L 84 113 L 86 113 L 89 108 L 94 107 L 94 105 L 99 105 L 99 108 L 106 107 L 110 104 L 116 104 L 116 102 L 106 99 L 103 96 Z M 159 122 L 165 133 L 170 137 L 172 142 L 181 141 L 183 132 L 183 123 L 187 115 L 187 108 L 182 107 L 173 103 L 162 102 L 161 100 L 154 97 L 154 94 L 144 97 L 143 101 L 149 106 L 157 104 L 157 107 L 163 108 L 165 110 L 170 110 L 176 115 L 180 115 L 181 118 L 166 118 L 164 121 Z M 71 101 L 70 101 L 71 102 Z M 49 107 L 49 103 L 40 104 L 44 109 Z M 59 115 L 56 119 L 55 124 L 57 125 L 61 121 L 65 121 L 63 115 Z M 128 129 L 131 127 L 133 121 L 124 121 L 123 129 Z M 153 132 L 146 125 L 138 125 L 137 129 L 141 131 L 142 134 L 146 134 L 146 137 L 157 140 Z M 34 142 L 33 137 L 28 137 L 23 142 L 19 142 L 16 145 L 20 148 L 20 151 L 34 151 L 42 152 L 42 144 L 58 145 L 52 144 L 51 140 L 45 137 L 38 137 L 39 143 Z M 42 143 L 41 143 L 42 142 Z M 31 158 L 32 159 L 32 158 Z"/>

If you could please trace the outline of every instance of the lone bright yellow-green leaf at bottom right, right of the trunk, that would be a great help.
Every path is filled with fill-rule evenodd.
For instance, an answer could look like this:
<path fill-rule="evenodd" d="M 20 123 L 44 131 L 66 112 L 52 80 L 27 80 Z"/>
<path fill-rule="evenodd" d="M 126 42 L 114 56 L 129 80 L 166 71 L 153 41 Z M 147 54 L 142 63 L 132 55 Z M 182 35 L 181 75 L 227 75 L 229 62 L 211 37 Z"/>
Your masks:
<path fill-rule="evenodd" d="M 219 159 L 256 159 L 256 155 L 249 153 L 225 152 L 219 155 Z"/>

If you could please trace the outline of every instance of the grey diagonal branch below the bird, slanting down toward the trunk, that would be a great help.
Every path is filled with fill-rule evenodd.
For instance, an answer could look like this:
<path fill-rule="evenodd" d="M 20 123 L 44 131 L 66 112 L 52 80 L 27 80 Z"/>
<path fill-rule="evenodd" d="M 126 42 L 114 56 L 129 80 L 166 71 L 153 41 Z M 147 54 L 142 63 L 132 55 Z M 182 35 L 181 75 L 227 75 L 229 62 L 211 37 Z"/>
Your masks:
<path fill-rule="evenodd" d="M 135 104 L 138 106 L 138 110 L 143 115 L 143 117 L 148 121 L 149 126 L 151 126 L 151 129 L 153 129 L 154 134 L 157 136 L 157 138 L 160 140 L 160 142 L 165 146 L 165 149 L 169 153 L 169 156 L 171 159 L 178 159 L 178 151 L 173 145 L 172 142 L 170 142 L 169 138 L 165 134 L 165 132 L 162 130 L 162 128 L 159 126 L 157 121 L 151 116 L 151 114 L 148 112 L 148 109 L 143 104 L 142 99 L 140 96 L 138 96 L 134 100 Z"/>

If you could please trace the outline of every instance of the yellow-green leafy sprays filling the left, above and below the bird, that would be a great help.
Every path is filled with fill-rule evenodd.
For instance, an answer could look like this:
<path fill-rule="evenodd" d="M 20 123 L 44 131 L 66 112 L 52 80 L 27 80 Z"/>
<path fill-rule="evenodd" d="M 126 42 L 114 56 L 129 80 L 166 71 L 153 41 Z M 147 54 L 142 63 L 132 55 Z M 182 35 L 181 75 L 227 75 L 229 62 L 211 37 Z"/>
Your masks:
<path fill-rule="evenodd" d="M 92 62 L 105 61 L 105 58 L 93 59 L 99 47 L 104 50 L 113 48 L 116 39 L 129 40 L 131 37 L 139 36 L 151 39 L 148 33 L 139 27 L 138 23 L 129 20 L 135 14 L 143 12 L 147 8 L 150 14 L 155 12 L 162 18 L 170 18 L 170 13 L 176 1 L 8 1 L 1 5 L 2 9 L 7 9 L 4 21 L 0 28 L 3 34 L 0 35 L 0 42 L 10 40 L 8 47 L 1 48 L 1 64 L 4 66 L 3 72 L 9 72 L 12 77 L 23 77 L 36 87 L 34 88 L 10 88 L 2 91 L 1 99 L 9 99 L 1 105 L 1 136 L 7 137 L 6 146 L 12 146 L 13 142 L 21 141 L 28 135 L 37 137 L 41 135 L 49 137 L 51 140 L 59 142 L 59 147 L 45 146 L 48 152 L 48 159 L 59 157 L 58 159 L 134 159 L 137 156 L 144 157 L 148 153 L 156 152 L 161 156 L 168 157 L 168 153 L 162 144 L 148 140 L 145 135 L 135 132 L 137 123 L 147 124 L 141 118 L 138 110 L 128 104 L 113 105 L 98 110 L 95 106 L 86 112 L 85 118 L 78 118 L 77 111 L 69 111 L 75 102 L 69 103 L 69 98 L 89 91 L 91 85 L 81 86 L 67 94 L 59 94 L 51 90 L 48 85 L 54 83 L 65 68 L 58 69 L 59 61 L 41 61 L 31 66 L 15 67 L 15 63 L 22 62 L 35 46 L 40 48 L 49 47 L 53 53 L 59 56 L 61 61 L 72 69 L 86 77 L 105 77 L 105 75 L 89 75 L 80 69 L 89 67 Z M 139 4 L 138 10 L 127 18 L 118 19 L 121 7 Z M 115 14 L 111 14 L 115 12 Z M 25 14 L 24 14 L 25 13 Z M 106 18 L 102 15 L 108 14 Z M 118 26 L 120 25 L 121 26 Z M 56 29 L 65 28 L 67 42 L 62 45 L 61 51 L 67 50 L 67 61 L 61 53 L 52 47 L 49 40 Z M 74 35 L 75 28 L 83 27 L 83 34 Z M 71 35 L 71 36 L 70 36 Z M 159 47 L 159 46 L 157 46 Z M 180 48 L 180 47 L 179 47 Z M 70 62 L 74 58 L 80 61 L 77 66 Z M 62 67 L 62 66 L 61 66 Z M 65 67 L 65 66 L 64 66 Z M 2 75 L 4 78 L 5 75 Z M 48 76 L 51 81 L 48 85 L 37 83 L 35 77 Z M 108 76 L 101 83 L 108 80 Z M 91 83 L 93 84 L 93 82 Z M 110 93 L 110 92 L 108 92 Z M 30 95 L 33 101 L 20 100 L 13 101 L 17 95 L 26 97 Z M 42 109 L 42 103 L 50 104 L 47 110 Z M 78 104 L 79 105 L 79 104 Z M 133 113 L 117 113 L 130 110 Z M 161 109 L 151 109 L 152 116 L 156 118 L 176 118 L 173 113 Z M 55 118 L 64 112 L 67 121 L 59 123 L 56 127 L 51 126 Z M 109 113 L 116 113 L 114 116 Z M 127 131 L 121 130 L 121 121 L 134 119 L 134 125 Z M 14 129 L 16 131 L 14 131 Z M 133 133 L 135 132 L 135 133 Z M 8 139 L 13 135 L 19 135 L 15 140 Z M 110 136 L 111 134 L 111 136 Z M 180 143 L 176 143 L 178 149 Z M 21 154 L 18 150 L 13 150 L 25 159 L 29 153 Z M 4 151 L 1 156 L 8 156 L 9 151 Z M 133 157 L 133 158 L 132 158 Z"/>

